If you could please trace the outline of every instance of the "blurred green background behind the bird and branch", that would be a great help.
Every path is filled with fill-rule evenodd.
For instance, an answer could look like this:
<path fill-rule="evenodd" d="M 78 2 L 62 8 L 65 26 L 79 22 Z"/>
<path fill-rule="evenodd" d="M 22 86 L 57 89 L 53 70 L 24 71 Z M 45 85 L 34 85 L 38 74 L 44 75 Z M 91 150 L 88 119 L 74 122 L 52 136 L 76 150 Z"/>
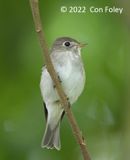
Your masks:
<path fill-rule="evenodd" d="M 61 6 L 123 7 L 123 14 L 61 13 Z M 87 42 L 86 86 L 73 112 L 92 160 L 130 159 L 130 11 L 127 0 L 44 0 L 49 47 L 60 36 Z M 61 151 L 40 147 L 45 129 L 39 89 L 44 64 L 29 1 L 0 0 L 0 160 L 81 160 L 67 118 Z"/>

